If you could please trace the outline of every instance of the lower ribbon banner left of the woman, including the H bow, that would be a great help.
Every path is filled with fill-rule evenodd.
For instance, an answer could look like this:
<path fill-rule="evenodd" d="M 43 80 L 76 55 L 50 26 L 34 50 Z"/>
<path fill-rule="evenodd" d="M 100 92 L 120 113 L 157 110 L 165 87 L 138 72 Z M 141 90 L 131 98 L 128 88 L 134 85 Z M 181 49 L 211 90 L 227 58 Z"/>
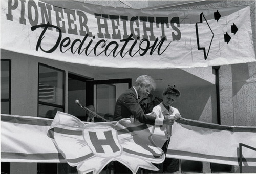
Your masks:
<path fill-rule="evenodd" d="M 1 162 L 68 162 L 79 173 L 99 173 L 116 160 L 133 173 L 158 170 L 166 141 L 160 128 L 142 123 L 87 123 L 57 112 L 55 118 L 1 114 Z M 33 130 L 33 131 L 31 131 Z"/>

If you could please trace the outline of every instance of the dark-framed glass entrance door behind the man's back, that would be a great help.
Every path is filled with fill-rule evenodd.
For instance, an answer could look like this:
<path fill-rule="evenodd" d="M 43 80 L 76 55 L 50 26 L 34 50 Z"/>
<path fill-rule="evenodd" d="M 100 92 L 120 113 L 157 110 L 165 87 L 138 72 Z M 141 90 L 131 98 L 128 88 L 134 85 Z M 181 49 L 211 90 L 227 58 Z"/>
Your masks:
<path fill-rule="evenodd" d="M 132 79 L 87 81 L 87 103 L 94 105 L 96 113 L 112 121 L 117 98 L 131 88 Z"/>

